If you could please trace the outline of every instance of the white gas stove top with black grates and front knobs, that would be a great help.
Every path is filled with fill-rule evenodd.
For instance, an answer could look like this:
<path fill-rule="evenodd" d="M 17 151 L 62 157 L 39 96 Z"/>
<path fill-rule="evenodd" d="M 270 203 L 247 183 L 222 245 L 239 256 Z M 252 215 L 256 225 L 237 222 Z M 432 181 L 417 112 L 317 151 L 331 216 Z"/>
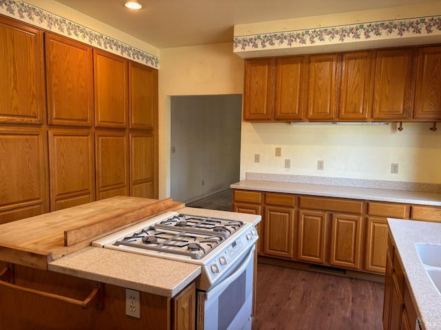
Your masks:
<path fill-rule="evenodd" d="M 210 285 L 254 245 L 252 223 L 165 212 L 92 242 L 102 248 L 202 266 Z"/>

